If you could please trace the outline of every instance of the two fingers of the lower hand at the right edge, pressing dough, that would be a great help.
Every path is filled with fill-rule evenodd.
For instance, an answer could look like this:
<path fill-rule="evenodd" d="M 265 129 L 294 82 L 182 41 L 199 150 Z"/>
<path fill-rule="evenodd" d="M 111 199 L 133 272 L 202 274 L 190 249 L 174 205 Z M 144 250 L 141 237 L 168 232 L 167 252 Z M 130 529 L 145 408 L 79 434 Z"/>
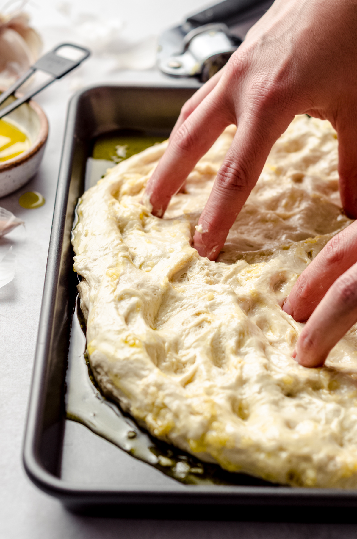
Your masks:
<path fill-rule="evenodd" d="M 304 367 L 324 364 L 357 322 L 357 221 L 325 245 L 301 273 L 283 310 L 305 322 L 292 357 Z"/>

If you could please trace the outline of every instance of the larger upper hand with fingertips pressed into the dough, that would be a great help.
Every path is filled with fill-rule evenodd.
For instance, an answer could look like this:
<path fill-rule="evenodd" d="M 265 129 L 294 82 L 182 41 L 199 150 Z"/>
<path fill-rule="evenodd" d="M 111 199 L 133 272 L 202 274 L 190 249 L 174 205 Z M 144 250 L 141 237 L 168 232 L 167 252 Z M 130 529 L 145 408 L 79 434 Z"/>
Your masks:
<path fill-rule="evenodd" d="M 342 204 L 357 216 L 357 2 L 276 0 L 228 64 L 184 105 L 146 198 L 161 217 L 196 162 L 236 123 L 194 247 L 214 260 L 273 143 L 296 114 L 338 132 Z M 313 267 L 313 265 L 311 265 Z"/>

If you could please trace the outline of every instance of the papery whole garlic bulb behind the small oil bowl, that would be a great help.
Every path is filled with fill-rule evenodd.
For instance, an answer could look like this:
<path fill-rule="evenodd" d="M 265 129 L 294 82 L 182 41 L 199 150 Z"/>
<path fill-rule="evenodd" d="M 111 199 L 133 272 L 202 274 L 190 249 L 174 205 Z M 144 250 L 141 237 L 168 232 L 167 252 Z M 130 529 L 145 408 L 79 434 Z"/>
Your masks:
<path fill-rule="evenodd" d="M 0 84 L 10 86 L 39 57 L 42 39 L 23 12 L 0 13 Z"/>

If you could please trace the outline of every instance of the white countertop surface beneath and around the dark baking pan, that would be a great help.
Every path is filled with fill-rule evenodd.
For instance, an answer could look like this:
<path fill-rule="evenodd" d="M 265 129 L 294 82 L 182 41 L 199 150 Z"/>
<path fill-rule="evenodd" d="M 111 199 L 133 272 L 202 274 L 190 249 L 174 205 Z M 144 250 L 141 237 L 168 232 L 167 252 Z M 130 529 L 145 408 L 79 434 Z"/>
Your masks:
<path fill-rule="evenodd" d="M 61 13 L 90 12 L 102 17 L 118 17 L 126 22 L 121 38 L 133 42 L 147 39 L 182 17 L 207 4 L 204 0 L 72 0 L 61 2 Z M 28 11 L 33 24 L 43 28 L 47 48 L 61 36 L 58 26 L 65 26 L 66 17 L 49 0 L 30 2 Z M 72 20 L 75 18 L 72 14 Z M 67 19 L 68 22 L 68 19 Z M 57 29 L 49 30 L 49 26 Z M 46 29 L 46 28 L 47 29 Z M 123 45 L 123 48 L 125 46 Z M 122 61 L 122 59 L 121 59 Z M 146 61 L 146 60 L 145 60 Z M 37 338 L 47 250 L 50 239 L 54 197 L 56 194 L 61 143 L 67 103 L 73 89 L 106 81 L 159 81 L 154 69 L 134 72 L 115 70 L 118 61 L 92 57 L 67 79 L 54 83 L 37 101 L 50 122 L 50 136 L 38 174 L 22 189 L 0 199 L 0 206 L 25 221 L 0 239 L 0 258 L 12 245 L 16 254 L 15 279 L 0 289 L 0 537 L 6 539 L 125 539 L 196 537 L 308 538 L 340 539 L 355 537 L 357 524 L 286 524 L 249 522 L 201 522 L 165 520 L 97 519 L 67 512 L 61 504 L 40 492 L 25 475 L 22 466 L 22 440 L 31 383 L 33 356 Z M 18 198 L 26 191 L 39 191 L 46 203 L 36 210 L 20 208 Z M 297 509 L 297 521 L 303 520 Z"/>

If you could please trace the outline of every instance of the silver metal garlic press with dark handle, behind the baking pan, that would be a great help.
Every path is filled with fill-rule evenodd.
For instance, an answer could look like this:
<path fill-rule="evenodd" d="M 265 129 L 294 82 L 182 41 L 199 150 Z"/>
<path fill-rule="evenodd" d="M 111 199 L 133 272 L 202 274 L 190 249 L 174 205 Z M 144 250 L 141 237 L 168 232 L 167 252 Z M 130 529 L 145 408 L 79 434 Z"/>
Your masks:
<path fill-rule="evenodd" d="M 171 77 L 210 79 L 273 0 L 224 0 L 189 16 L 159 39 L 157 65 Z"/>

